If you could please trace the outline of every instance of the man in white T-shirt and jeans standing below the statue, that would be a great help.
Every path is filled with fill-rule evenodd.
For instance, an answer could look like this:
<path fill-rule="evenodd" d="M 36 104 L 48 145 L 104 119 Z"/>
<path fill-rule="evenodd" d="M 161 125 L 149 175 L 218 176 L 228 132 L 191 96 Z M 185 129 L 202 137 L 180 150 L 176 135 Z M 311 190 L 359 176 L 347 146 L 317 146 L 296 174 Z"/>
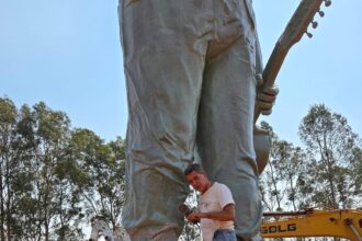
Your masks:
<path fill-rule="evenodd" d="M 184 174 L 192 187 L 201 193 L 200 213 L 191 213 L 188 220 L 201 222 L 203 241 L 236 241 L 235 202 L 230 190 L 210 181 L 200 164 L 189 165 Z"/>

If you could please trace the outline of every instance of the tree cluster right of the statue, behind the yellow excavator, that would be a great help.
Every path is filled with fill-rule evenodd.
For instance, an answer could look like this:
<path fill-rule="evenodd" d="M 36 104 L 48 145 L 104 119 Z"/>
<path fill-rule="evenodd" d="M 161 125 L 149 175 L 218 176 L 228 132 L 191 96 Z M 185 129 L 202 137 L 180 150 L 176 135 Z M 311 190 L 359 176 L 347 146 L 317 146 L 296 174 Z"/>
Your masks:
<path fill-rule="evenodd" d="M 305 149 L 280 140 L 267 123 L 261 125 L 272 141 L 260 180 L 265 210 L 361 207 L 361 141 L 343 116 L 325 105 L 312 106 L 299 126 Z"/>

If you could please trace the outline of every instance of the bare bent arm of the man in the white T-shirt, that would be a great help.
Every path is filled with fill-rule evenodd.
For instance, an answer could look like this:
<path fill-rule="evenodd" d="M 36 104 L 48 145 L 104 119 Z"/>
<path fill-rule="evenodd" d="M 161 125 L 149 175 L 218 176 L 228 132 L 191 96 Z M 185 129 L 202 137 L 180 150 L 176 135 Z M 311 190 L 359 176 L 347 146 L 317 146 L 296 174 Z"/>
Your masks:
<path fill-rule="evenodd" d="M 202 218 L 213 219 L 217 221 L 231 221 L 235 219 L 235 205 L 226 205 L 222 211 L 213 213 L 192 213 L 188 216 L 190 222 L 200 221 Z"/>

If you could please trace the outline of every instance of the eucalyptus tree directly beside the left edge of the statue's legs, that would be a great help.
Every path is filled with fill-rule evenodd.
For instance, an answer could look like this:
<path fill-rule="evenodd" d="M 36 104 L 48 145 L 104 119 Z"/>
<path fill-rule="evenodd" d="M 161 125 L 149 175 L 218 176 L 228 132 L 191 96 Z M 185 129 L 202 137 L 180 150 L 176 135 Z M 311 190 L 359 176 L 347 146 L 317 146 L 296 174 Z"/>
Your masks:
<path fill-rule="evenodd" d="M 121 226 L 124 203 L 124 141 L 121 137 L 105 144 L 93 131 L 78 128 L 70 140 L 71 159 L 77 172 L 73 182 L 90 220 L 103 216 L 112 228 Z"/>

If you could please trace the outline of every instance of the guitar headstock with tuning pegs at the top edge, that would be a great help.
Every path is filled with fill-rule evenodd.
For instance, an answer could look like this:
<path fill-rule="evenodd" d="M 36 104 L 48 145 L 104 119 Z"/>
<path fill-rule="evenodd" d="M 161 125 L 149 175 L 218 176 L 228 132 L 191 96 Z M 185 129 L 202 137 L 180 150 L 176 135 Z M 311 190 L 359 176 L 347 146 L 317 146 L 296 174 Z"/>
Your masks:
<path fill-rule="evenodd" d="M 313 28 L 318 26 L 318 23 L 314 21 L 314 16 L 316 13 L 319 13 L 319 16 L 321 18 L 325 15 L 325 13 L 320 10 L 323 2 L 325 2 L 325 7 L 329 7 L 331 4 L 330 0 L 301 1 L 291 21 L 286 25 L 284 33 L 278 41 L 282 48 L 290 49 L 295 43 L 301 41 L 303 34 L 307 34 L 308 37 L 313 36 L 307 32 L 308 25 L 312 24 Z"/>

